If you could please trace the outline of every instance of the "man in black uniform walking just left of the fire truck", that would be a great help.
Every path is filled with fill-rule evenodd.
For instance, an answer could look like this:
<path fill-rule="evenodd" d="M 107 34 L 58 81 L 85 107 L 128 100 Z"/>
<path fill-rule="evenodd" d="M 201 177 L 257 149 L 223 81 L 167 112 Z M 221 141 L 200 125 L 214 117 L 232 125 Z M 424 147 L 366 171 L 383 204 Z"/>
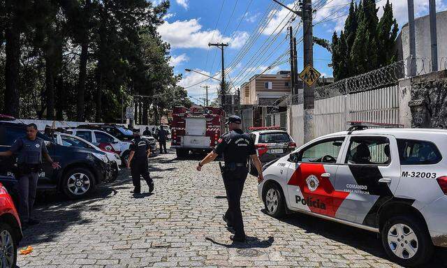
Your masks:
<path fill-rule="evenodd" d="M 131 168 L 133 191 L 131 193 L 139 194 L 141 192 L 140 179 L 145 179 L 147 186 L 149 186 L 149 193 L 154 191 L 154 181 L 152 181 L 147 167 L 147 156 L 150 153 L 149 142 L 140 136 L 138 128 L 133 129 L 134 139 L 131 141 L 131 153 L 129 154 L 129 161 L 127 161 L 127 168 Z"/>

